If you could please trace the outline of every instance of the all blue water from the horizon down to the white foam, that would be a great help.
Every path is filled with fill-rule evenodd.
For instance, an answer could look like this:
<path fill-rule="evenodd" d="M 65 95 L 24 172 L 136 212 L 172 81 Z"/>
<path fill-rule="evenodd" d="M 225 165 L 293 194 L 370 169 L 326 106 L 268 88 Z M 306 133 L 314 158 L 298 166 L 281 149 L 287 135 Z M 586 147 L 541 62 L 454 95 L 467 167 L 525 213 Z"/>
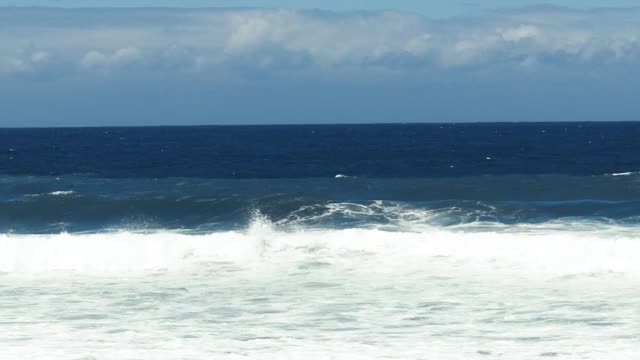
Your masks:
<path fill-rule="evenodd" d="M 638 139 L 640 123 L 0 129 L 0 232 L 210 231 L 255 212 L 330 227 L 636 223 Z"/>

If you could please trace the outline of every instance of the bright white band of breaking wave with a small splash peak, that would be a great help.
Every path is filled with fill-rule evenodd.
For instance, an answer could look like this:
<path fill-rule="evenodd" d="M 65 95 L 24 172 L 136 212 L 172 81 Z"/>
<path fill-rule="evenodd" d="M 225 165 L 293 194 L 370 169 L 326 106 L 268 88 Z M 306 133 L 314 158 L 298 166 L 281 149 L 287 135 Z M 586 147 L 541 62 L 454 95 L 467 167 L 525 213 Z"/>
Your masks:
<path fill-rule="evenodd" d="M 582 227 L 582 229 L 581 229 Z M 286 229 L 254 220 L 244 231 L 0 235 L 4 273 L 184 271 L 212 264 L 308 264 L 395 273 L 431 266 L 547 275 L 640 277 L 635 227 L 549 223 L 403 231 Z M 306 265 L 305 265 L 306 264 Z"/>

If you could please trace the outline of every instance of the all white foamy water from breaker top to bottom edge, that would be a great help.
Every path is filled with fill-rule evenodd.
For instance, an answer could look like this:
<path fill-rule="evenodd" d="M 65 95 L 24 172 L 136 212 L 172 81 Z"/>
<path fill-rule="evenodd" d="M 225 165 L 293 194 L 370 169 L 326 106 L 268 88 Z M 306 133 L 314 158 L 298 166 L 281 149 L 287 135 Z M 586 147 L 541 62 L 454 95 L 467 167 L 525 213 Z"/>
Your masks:
<path fill-rule="evenodd" d="M 586 223 L 2 235 L 0 358 L 633 359 L 639 252 Z"/>

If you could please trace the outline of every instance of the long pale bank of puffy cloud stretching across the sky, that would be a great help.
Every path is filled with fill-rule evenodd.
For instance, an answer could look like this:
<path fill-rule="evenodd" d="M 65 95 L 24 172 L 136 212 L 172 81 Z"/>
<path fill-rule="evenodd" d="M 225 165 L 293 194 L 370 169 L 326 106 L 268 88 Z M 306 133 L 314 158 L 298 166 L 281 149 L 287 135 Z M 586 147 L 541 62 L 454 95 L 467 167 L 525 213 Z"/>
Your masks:
<path fill-rule="evenodd" d="M 637 64 L 640 59 L 640 22 L 629 16 L 639 15 L 638 9 L 538 8 L 443 21 L 389 11 L 3 12 L 10 19 L 4 25 L 9 31 L 0 33 L 0 73 L 5 75 L 54 66 L 54 58 L 55 66 L 71 72 L 141 64 L 138 68 L 162 72 L 355 68 L 396 73 Z M 86 21 L 87 14 L 94 21 Z"/>

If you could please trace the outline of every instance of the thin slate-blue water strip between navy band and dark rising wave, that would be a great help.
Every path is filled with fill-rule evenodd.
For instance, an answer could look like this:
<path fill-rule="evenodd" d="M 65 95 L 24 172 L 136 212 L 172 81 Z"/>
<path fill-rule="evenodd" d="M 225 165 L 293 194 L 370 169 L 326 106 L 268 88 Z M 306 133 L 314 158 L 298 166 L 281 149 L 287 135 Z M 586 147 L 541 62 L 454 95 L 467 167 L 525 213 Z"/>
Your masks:
<path fill-rule="evenodd" d="M 340 177 L 278 179 L 114 179 L 92 176 L 0 176 L 0 200 L 95 195 L 113 198 L 161 194 L 211 198 L 258 198 L 274 194 L 325 200 L 638 200 L 640 173 L 598 176 L 486 175 L 451 178 Z"/>

